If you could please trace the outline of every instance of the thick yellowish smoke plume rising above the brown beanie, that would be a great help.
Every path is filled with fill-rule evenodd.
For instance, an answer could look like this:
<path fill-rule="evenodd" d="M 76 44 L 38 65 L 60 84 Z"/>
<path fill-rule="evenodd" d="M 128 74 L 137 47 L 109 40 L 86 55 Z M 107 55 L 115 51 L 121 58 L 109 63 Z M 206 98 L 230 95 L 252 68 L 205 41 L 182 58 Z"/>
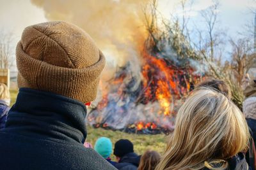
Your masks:
<path fill-rule="evenodd" d="M 143 6 L 148 0 L 31 0 L 48 20 L 64 20 L 88 32 L 107 58 L 106 80 L 129 59 L 140 73 L 140 49 L 145 41 Z M 110 73 L 110 74 L 109 74 Z"/>

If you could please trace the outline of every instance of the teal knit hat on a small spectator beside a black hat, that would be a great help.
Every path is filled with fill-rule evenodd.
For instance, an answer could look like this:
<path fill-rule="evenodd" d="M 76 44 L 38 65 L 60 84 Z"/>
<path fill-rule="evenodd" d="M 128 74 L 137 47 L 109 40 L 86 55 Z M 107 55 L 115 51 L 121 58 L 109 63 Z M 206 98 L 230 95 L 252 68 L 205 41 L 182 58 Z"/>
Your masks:
<path fill-rule="evenodd" d="M 94 149 L 97 153 L 102 155 L 104 159 L 108 158 L 112 153 L 112 143 L 109 138 L 101 137 L 97 139 Z"/>

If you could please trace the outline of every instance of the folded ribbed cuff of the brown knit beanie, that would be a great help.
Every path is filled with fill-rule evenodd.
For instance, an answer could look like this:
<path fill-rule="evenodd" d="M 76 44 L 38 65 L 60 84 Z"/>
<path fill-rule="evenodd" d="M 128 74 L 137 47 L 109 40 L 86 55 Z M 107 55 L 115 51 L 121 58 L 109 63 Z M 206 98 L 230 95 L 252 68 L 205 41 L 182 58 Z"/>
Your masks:
<path fill-rule="evenodd" d="M 19 70 L 19 87 L 54 92 L 88 103 L 97 95 L 99 76 L 105 65 L 105 57 L 100 52 L 99 61 L 89 67 L 73 69 L 59 67 L 30 57 L 19 42 L 16 49 Z"/>

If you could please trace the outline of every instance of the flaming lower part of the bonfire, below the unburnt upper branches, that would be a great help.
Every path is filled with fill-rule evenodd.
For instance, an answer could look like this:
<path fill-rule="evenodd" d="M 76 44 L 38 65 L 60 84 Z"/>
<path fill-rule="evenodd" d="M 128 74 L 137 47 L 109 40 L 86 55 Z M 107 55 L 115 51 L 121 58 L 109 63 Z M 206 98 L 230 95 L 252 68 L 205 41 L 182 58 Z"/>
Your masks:
<path fill-rule="evenodd" d="M 171 60 L 143 52 L 141 73 L 132 64 L 120 67 L 102 89 L 102 99 L 88 116 L 93 127 L 138 134 L 173 131 L 182 97 L 200 75 L 191 66 L 174 66 Z"/>

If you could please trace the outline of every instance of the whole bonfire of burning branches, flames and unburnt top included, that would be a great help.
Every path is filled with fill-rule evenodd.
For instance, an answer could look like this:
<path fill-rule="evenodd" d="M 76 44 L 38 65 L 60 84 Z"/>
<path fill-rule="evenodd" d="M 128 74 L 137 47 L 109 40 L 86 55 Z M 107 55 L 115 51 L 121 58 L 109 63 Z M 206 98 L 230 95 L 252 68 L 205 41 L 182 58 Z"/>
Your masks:
<path fill-rule="evenodd" d="M 128 61 L 100 83 L 102 99 L 90 111 L 88 124 L 138 134 L 173 131 L 184 97 L 204 78 L 204 66 L 182 32 L 159 31 L 155 21 L 156 16 L 146 18 L 148 38 L 138 43 L 140 63 Z M 136 64 L 139 71 L 133 69 Z"/>

